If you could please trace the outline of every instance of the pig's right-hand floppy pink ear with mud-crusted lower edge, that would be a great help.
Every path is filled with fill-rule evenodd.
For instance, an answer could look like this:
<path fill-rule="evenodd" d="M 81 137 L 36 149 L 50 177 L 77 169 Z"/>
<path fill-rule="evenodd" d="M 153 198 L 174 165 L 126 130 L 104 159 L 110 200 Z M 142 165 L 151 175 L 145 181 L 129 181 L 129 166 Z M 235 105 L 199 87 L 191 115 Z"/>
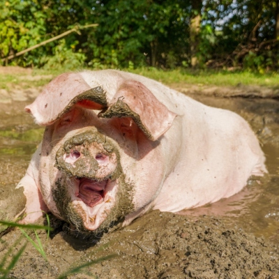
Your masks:
<path fill-rule="evenodd" d="M 176 114 L 160 103 L 141 82 L 123 82 L 100 117 L 130 117 L 150 140 L 158 140 L 172 126 Z"/>

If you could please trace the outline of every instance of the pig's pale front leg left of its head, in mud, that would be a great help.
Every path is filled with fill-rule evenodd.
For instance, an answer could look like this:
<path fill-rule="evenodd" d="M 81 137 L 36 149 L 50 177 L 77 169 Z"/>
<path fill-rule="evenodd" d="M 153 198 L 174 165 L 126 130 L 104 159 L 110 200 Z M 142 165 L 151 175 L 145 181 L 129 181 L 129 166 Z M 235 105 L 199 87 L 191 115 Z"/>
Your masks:
<path fill-rule="evenodd" d="M 41 144 L 38 146 L 38 149 L 33 154 L 25 176 L 20 180 L 16 187 L 23 187 L 23 193 L 27 198 L 27 202 L 25 205 L 26 216 L 23 220 L 21 220 L 21 223 L 24 224 L 36 222 L 38 218 L 43 216 L 44 212 L 49 211 L 40 193 L 40 183 L 38 177 L 38 169 L 40 165 L 40 150 Z"/>

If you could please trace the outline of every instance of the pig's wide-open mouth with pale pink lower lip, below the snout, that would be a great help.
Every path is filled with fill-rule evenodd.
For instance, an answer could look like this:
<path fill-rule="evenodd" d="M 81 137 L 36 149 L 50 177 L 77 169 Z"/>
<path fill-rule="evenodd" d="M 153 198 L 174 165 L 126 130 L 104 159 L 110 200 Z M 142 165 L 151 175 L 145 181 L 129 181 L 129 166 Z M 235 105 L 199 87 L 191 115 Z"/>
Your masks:
<path fill-rule="evenodd" d="M 76 178 L 74 185 L 72 203 L 82 217 L 84 229 L 98 229 L 115 204 L 117 179 Z"/>

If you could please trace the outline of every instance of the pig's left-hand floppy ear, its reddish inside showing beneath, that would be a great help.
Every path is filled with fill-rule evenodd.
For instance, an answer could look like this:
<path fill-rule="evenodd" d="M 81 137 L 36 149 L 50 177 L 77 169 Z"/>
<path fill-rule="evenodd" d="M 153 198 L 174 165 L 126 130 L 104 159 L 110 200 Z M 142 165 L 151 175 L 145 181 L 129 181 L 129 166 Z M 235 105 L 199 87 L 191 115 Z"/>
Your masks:
<path fill-rule="evenodd" d="M 92 110 L 107 107 L 105 91 L 100 86 L 91 88 L 79 73 L 59 75 L 47 84 L 36 100 L 25 107 L 40 125 L 50 125 L 70 110 L 73 105 Z"/>

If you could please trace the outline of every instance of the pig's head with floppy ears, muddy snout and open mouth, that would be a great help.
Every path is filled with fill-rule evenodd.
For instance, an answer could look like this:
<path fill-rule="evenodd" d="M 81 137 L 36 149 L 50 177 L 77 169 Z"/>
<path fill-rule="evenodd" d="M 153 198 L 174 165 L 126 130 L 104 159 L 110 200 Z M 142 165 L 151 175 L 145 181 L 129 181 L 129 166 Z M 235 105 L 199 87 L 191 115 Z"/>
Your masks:
<path fill-rule="evenodd" d="M 82 230 L 103 229 L 151 204 L 164 170 L 146 160 L 160 157 L 158 139 L 176 116 L 142 83 L 98 73 L 60 75 L 25 108 L 46 126 L 44 202 Z"/>

